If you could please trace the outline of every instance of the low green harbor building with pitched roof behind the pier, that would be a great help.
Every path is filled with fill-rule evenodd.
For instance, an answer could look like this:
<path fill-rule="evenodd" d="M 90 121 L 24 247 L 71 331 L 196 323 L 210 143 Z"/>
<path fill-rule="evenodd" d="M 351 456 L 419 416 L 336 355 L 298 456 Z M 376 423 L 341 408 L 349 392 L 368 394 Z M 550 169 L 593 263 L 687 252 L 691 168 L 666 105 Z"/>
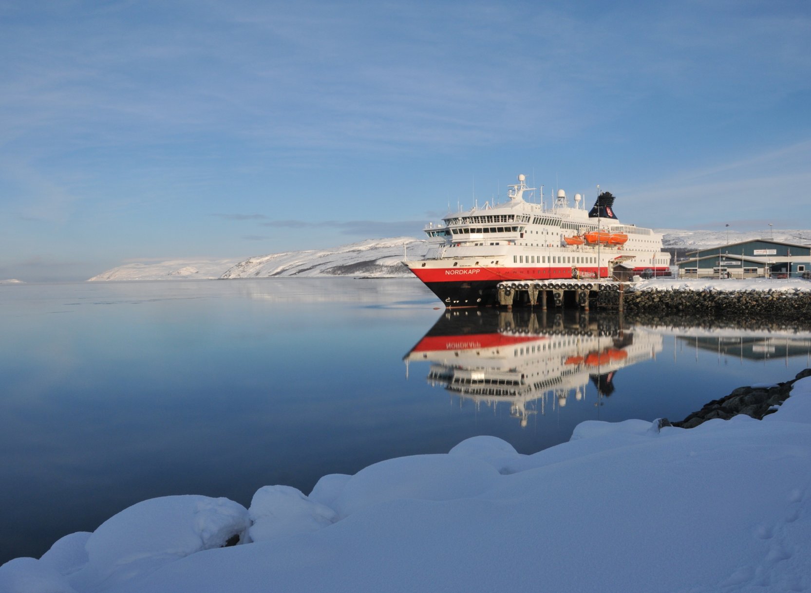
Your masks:
<path fill-rule="evenodd" d="M 697 250 L 676 265 L 680 278 L 811 278 L 811 246 L 752 239 Z"/>

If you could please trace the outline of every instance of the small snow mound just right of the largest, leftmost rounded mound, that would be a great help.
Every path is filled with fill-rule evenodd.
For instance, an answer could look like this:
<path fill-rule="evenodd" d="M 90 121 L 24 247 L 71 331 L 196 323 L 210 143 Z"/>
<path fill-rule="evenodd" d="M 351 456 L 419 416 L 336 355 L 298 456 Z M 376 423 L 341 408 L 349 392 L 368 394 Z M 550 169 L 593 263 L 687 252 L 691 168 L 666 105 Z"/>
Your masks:
<path fill-rule="evenodd" d="M 337 519 L 334 510 L 290 486 L 260 488 L 248 512 L 253 522 L 248 535 L 255 542 L 318 531 Z"/>

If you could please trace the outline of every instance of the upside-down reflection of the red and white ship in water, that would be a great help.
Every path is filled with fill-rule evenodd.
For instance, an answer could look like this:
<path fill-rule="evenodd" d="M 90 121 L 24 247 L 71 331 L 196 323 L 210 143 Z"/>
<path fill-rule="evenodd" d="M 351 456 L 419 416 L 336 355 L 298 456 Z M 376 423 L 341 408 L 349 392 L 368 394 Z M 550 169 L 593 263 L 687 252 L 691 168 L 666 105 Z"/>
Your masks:
<path fill-rule="evenodd" d="M 661 349 L 660 335 L 622 331 L 616 317 L 478 309 L 445 313 L 405 360 L 430 362 L 432 386 L 477 405 L 509 402 L 526 425 L 538 403 L 543 413 L 570 396 L 584 400 L 590 381 L 611 395 L 618 369 Z"/>

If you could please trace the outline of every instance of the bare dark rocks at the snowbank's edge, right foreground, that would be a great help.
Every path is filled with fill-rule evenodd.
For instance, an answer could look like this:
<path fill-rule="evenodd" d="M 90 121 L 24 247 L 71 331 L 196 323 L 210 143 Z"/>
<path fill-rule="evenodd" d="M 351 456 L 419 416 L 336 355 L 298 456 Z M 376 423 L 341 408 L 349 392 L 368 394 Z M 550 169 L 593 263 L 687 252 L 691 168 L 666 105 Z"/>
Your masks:
<path fill-rule="evenodd" d="M 729 420 L 732 416 L 737 416 L 738 414 L 745 414 L 756 420 L 762 420 L 763 416 L 777 412 L 780 404 L 786 401 L 788 396 L 791 395 L 792 386 L 794 386 L 796 381 L 809 376 L 811 376 L 811 369 L 805 369 L 797 373 L 796 377 L 791 381 L 770 384 L 768 386 L 753 385 L 738 387 L 736 390 L 733 390 L 731 394 L 706 403 L 701 410 L 689 414 L 689 416 L 680 422 L 670 423 L 665 419 L 662 420 L 661 424 L 677 426 L 682 429 L 693 429 L 707 420 L 713 420 L 714 418 Z"/>

